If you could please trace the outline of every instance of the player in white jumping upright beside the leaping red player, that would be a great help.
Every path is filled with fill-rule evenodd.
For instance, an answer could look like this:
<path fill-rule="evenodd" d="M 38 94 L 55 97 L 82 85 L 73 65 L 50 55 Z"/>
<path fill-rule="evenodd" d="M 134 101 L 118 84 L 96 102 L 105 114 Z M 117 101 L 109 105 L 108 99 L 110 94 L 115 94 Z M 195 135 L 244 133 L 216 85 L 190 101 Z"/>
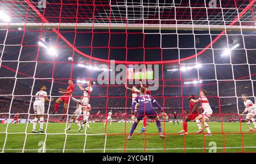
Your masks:
<path fill-rule="evenodd" d="M 86 111 L 89 109 L 89 108 L 87 108 L 87 106 L 89 104 L 90 94 L 92 93 L 92 90 L 93 90 L 93 88 L 92 88 L 93 81 L 89 81 L 86 88 L 82 88 L 81 84 L 78 84 L 78 86 L 84 92 L 84 98 L 82 99 L 82 101 L 84 102 L 85 106 L 82 107 L 82 113 L 84 114 L 84 121 L 82 122 L 82 124 L 85 124 L 86 123 Z"/>

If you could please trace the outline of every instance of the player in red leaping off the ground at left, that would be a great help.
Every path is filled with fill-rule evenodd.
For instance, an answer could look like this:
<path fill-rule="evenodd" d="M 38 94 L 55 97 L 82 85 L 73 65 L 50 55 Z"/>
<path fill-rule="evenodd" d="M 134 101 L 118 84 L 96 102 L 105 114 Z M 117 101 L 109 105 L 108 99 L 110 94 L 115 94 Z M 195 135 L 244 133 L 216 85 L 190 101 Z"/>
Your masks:
<path fill-rule="evenodd" d="M 68 103 L 70 100 L 70 96 L 75 90 L 75 84 L 73 84 L 73 80 L 68 80 L 68 88 L 67 89 L 59 89 L 59 93 L 63 93 L 64 96 L 61 96 L 56 100 L 55 106 L 54 106 L 54 111 L 51 114 L 57 114 L 58 107 L 60 105 L 60 102 L 64 102 L 64 115 L 60 120 L 63 120 L 65 118 L 65 114 L 67 114 L 67 109 L 68 109 Z"/>

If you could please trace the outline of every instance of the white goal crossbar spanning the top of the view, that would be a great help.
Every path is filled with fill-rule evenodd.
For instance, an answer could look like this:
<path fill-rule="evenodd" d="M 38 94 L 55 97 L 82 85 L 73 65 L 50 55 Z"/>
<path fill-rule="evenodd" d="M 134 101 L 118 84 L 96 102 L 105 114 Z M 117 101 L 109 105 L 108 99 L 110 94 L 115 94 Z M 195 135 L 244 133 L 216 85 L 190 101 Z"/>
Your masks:
<path fill-rule="evenodd" d="M 188 31 L 256 31 L 256 26 L 191 24 L 122 24 L 122 23 L 0 23 L 0 28 L 60 29 L 152 29 Z"/>

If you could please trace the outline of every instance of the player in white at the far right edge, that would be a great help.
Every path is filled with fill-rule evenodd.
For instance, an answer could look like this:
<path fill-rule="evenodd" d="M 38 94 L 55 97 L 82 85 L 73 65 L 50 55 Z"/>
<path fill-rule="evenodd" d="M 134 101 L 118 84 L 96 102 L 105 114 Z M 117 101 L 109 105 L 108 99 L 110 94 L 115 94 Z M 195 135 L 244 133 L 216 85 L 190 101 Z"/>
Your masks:
<path fill-rule="evenodd" d="M 246 94 L 242 94 L 242 100 L 243 100 L 243 104 L 245 105 L 245 110 L 242 112 L 242 114 L 247 113 L 245 122 L 247 122 L 249 131 L 256 131 L 256 123 L 254 119 L 254 116 L 256 113 L 256 105 L 251 100 L 247 99 Z M 251 127 L 250 121 L 253 122 L 254 129 Z"/>

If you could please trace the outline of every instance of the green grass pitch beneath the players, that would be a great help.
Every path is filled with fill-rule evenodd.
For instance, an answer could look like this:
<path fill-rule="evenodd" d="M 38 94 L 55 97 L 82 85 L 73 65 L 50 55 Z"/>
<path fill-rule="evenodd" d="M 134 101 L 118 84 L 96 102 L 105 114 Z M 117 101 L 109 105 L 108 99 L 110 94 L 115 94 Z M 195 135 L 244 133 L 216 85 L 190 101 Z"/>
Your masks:
<path fill-rule="evenodd" d="M 47 137 L 45 134 L 32 134 L 32 124 L 28 124 L 27 136 L 25 132 L 26 124 L 9 124 L 6 145 L 4 152 L 22 152 L 24 140 L 26 144 L 24 146 L 24 152 L 40 152 L 42 149 L 42 141 L 46 138 L 46 152 L 83 152 L 85 145 L 86 152 L 209 152 L 209 148 L 212 147 L 213 142 L 216 143 L 217 152 L 256 152 L 256 133 L 247 132 L 246 123 L 216 123 L 209 122 L 209 127 L 214 134 L 213 136 L 205 136 L 203 134 L 195 134 L 197 126 L 195 122 L 188 123 L 187 136 L 180 136 L 177 134 L 182 129 L 182 123 L 173 125 L 172 123 L 162 123 L 163 130 L 168 133 L 165 140 L 160 139 L 158 129 L 155 124 L 148 124 L 147 134 L 140 134 L 142 123 L 138 124 L 135 130 L 133 139 L 125 143 L 125 123 L 112 123 L 113 125 L 106 127 L 107 136 L 104 134 L 105 126 L 103 123 L 90 123 L 90 130 L 86 130 L 87 134 L 99 134 L 99 135 L 87 135 L 85 131 L 77 132 L 78 128 L 75 124 L 72 125 L 72 129 L 68 131 L 68 135 L 64 134 L 65 123 L 49 123 L 47 127 Z M 132 123 L 126 124 L 126 132 L 130 132 Z M 0 124 L 0 149 L 2 152 L 3 144 L 6 137 L 6 125 Z M 44 124 L 44 128 L 46 124 Z M 222 132 L 226 133 L 223 135 Z M 39 128 L 39 124 L 37 125 Z M 240 130 L 242 129 L 242 133 Z M 11 134 L 14 133 L 14 134 Z M 194 134 L 192 134 L 194 133 Z M 80 134 L 80 135 L 77 135 Z M 115 135 L 114 135 L 115 134 Z M 156 134 L 156 135 L 150 135 Z M 145 147 L 146 137 L 146 150 Z M 106 143 L 105 143 L 106 138 Z M 86 144 L 85 144 L 86 139 Z M 185 142 L 184 142 L 185 140 Z M 225 141 L 225 149 L 224 147 Z M 40 143 L 41 142 L 41 143 Z M 204 149 L 204 145 L 206 149 Z M 242 146 L 243 145 L 243 146 Z M 42 151 L 42 150 L 41 150 Z"/>

